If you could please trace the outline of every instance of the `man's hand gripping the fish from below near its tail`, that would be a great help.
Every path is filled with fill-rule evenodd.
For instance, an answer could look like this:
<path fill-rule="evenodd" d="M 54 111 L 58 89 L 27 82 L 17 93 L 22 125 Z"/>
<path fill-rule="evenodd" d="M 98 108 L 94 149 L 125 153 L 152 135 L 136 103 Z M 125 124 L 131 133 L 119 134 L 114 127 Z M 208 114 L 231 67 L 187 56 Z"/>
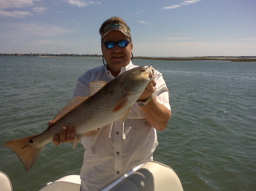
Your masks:
<path fill-rule="evenodd" d="M 51 125 L 52 121 L 48 124 Z M 59 134 L 55 134 L 52 142 L 54 145 L 58 146 L 60 143 L 74 142 L 76 136 L 76 129 L 72 125 L 68 125 L 61 129 Z"/>

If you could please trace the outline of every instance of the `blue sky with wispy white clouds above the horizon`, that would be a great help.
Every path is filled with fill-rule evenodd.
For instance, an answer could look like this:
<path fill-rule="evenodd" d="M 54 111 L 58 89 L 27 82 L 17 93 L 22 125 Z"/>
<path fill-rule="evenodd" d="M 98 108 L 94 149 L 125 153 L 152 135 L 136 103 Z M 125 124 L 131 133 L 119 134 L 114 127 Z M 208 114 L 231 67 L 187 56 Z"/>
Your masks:
<path fill-rule="evenodd" d="M 256 56 L 255 10 L 255 0 L 0 0 L 0 53 L 101 54 L 98 30 L 119 16 L 134 56 Z"/>

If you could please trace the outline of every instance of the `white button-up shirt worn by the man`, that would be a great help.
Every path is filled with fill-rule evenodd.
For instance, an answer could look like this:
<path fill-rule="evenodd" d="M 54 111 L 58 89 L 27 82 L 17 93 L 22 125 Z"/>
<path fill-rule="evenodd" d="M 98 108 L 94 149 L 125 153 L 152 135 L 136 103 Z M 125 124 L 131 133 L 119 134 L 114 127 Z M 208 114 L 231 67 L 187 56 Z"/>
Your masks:
<path fill-rule="evenodd" d="M 129 63 L 121 73 L 137 67 Z M 121 74 L 120 73 L 120 74 Z M 169 95 L 162 74 L 155 71 L 156 100 L 170 111 Z M 109 82 L 114 77 L 107 66 L 86 71 L 76 86 L 74 97 L 89 96 L 89 83 Z M 153 160 L 158 145 L 156 130 L 145 120 L 141 108 L 135 103 L 125 122 L 114 121 L 99 129 L 92 137 L 82 137 L 85 147 L 84 163 L 81 168 L 82 190 L 99 190 L 117 179 L 131 168 Z"/>

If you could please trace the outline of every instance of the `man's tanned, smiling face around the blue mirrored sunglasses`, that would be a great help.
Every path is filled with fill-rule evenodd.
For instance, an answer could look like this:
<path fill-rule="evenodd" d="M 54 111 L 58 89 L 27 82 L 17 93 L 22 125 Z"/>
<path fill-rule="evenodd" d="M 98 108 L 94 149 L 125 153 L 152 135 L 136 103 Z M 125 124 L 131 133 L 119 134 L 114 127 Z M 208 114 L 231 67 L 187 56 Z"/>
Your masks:
<path fill-rule="evenodd" d="M 102 43 L 107 41 L 117 43 L 121 40 L 128 40 L 128 37 L 120 31 L 111 31 L 104 37 Z M 129 43 L 123 48 L 120 48 L 117 44 L 115 44 L 114 48 L 111 49 L 106 48 L 106 46 L 102 44 L 101 50 L 105 61 L 108 63 L 108 69 L 112 72 L 112 75 L 115 73 L 119 74 L 121 67 L 127 66 L 130 63 L 131 53 L 133 52 L 133 43 Z"/>

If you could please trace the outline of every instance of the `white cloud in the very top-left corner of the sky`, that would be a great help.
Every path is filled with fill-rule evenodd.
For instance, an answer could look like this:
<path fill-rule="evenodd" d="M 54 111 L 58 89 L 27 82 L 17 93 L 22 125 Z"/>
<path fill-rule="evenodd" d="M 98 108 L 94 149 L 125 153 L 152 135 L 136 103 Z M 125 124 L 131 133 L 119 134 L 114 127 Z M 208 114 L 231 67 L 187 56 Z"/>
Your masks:
<path fill-rule="evenodd" d="M 35 1 L 39 0 L 1 0 L 0 9 L 23 8 L 32 6 Z"/>

